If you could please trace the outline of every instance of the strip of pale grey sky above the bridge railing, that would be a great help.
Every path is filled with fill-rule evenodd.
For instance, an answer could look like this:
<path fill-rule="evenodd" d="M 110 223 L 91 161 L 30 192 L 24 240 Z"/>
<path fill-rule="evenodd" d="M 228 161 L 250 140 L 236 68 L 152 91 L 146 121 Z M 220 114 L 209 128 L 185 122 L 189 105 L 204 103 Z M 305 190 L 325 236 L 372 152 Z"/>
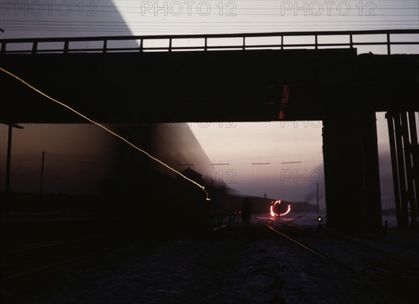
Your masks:
<path fill-rule="evenodd" d="M 417 0 L 1 0 L 0 4 L 3 38 L 414 29 L 419 23 Z"/>

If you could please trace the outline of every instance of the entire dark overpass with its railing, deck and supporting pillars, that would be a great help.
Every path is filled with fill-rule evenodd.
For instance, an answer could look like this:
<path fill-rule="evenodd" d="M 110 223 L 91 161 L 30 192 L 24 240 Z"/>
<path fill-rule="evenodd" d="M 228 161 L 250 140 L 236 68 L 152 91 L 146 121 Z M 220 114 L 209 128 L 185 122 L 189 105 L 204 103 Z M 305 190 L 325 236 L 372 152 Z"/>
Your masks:
<path fill-rule="evenodd" d="M 385 39 L 355 39 L 371 34 Z M 397 45 L 418 45 L 393 41 L 395 36 L 418 34 L 388 30 L 3 39 L 0 66 L 97 122 L 323 120 L 328 226 L 379 229 L 378 111 L 388 112 L 399 226 L 409 226 L 409 215 L 413 224 L 418 222 L 419 178 L 413 168 L 419 167 L 414 119 L 419 57 L 392 54 Z M 347 41 L 321 42 L 336 36 Z M 286 43 L 288 37 L 311 37 L 312 42 Z M 279 43 L 249 42 L 256 38 L 278 38 Z M 212 43 L 217 39 L 225 44 Z M 167 45 L 148 47 L 149 41 Z M 110 47 L 111 42 L 117 46 Z M 382 45 L 386 53 L 358 54 L 365 45 Z M 6 73 L 0 73 L 0 82 L 7 104 L 1 122 L 84 122 Z"/>

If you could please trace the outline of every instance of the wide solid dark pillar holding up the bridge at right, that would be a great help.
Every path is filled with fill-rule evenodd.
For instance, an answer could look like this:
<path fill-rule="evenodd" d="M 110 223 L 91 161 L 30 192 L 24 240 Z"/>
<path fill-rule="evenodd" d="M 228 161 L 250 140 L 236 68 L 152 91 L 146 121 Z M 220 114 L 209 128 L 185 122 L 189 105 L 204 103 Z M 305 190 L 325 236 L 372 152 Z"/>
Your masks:
<path fill-rule="evenodd" d="M 328 227 L 381 229 L 375 113 L 326 115 L 323 158 Z"/>

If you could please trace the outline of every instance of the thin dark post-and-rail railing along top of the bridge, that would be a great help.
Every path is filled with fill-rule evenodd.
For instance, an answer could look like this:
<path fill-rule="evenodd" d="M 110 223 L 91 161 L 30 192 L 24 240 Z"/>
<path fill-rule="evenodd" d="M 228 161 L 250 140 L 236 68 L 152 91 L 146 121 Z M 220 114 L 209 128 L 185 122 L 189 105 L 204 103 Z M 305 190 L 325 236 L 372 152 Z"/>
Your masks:
<path fill-rule="evenodd" d="M 378 38 L 379 37 L 379 38 Z M 413 38 L 412 38 L 413 37 Z M 378 41 L 376 40 L 378 39 Z M 155 42 L 160 45 L 155 45 Z M 194 44 L 191 44 L 193 41 Z M 224 41 L 224 43 L 216 43 Z M 235 41 L 235 43 L 232 43 Z M 296 41 L 296 42 L 295 42 Z M 154 42 L 154 45 L 153 45 Z M 163 42 L 163 45 L 161 43 Z M 182 45 L 183 42 L 183 45 Z M 322 48 L 386 48 L 416 45 L 419 53 L 419 29 L 388 29 L 365 31 L 299 31 L 244 34 L 192 34 L 161 36 L 96 36 L 64 38 L 0 39 L 0 55 L 13 53 L 73 53 L 73 52 L 172 52 L 191 50 L 256 50 L 256 49 L 322 49 Z M 116 45 L 115 46 L 111 46 Z M 72 47 L 72 44 L 79 45 Z M 80 44 L 84 44 L 80 47 Z M 150 45 L 148 45 L 150 44 Z M 42 46 L 41 46 L 42 45 Z M 51 46 L 53 45 L 53 46 Z M 59 47 L 57 47 L 59 45 Z M 92 48 L 91 45 L 94 45 Z M 47 46 L 47 47 L 45 47 Z"/>

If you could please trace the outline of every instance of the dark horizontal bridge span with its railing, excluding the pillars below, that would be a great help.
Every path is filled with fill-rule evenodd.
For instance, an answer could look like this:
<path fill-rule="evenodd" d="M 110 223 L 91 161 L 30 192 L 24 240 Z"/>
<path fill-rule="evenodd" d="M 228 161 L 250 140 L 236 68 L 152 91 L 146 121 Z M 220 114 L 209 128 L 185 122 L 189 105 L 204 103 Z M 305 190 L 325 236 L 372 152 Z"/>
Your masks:
<path fill-rule="evenodd" d="M 336 34 L 325 35 L 332 33 Z M 419 30 L 407 31 L 412 33 Z M 211 52 L 145 52 L 144 48 L 108 52 L 109 37 L 72 38 L 101 39 L 105 42 L 100 52 L 71 50 L 71 38 L 66 38 L 60 52 L 39 52 L 38 45 L 64 38 L 32 40 L 29 51 L 9 52 L 7 45 L 29 41 L 3 40 L 0 66 L 100 122 L 321 120 L 325 114 L 341 111 L 419 110 L 418 55 L 358 55 L 352 32 L 346 33 L 351 37 L 347 48 L 320 48 L 321 33 L 311 33 L 316 44 L 287 49 L 290 45 L 284 45 L 284 36 L 288 34 L 281 34 L 279 50 L 272 45 L 249 50 L 243 42 L 235 50 L 223 46 Z M 381 43 L 388 50 L 390 34 Z M 205 49 L 212 47 L 207 44 L 210 38 L 232 38 L 223 36 L 205 36 Z M 140 39 L 140 47 L 147 38 Z M 175 38 L 169 38 L 166 50 L 175 48 Z M 1 121 L 81 121 L 10 75 L 0 73 L 0 82 L 2 99 L 9 105 L 1 111 Z"/>

